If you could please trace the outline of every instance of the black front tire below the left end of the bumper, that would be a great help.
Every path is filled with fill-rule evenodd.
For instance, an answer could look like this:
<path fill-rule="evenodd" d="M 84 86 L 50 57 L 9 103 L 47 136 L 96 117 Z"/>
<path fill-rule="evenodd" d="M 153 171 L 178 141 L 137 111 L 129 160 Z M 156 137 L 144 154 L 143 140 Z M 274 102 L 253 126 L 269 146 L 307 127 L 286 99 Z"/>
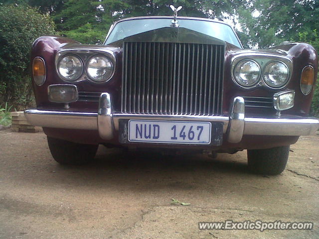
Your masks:
<path fill-rule="evenodd" d="M 86 164 L 94 159 L 99 146 L 97 144 L 81 144 L 57 138 L 47 138 L 52 157 L 60 164 Z"/>

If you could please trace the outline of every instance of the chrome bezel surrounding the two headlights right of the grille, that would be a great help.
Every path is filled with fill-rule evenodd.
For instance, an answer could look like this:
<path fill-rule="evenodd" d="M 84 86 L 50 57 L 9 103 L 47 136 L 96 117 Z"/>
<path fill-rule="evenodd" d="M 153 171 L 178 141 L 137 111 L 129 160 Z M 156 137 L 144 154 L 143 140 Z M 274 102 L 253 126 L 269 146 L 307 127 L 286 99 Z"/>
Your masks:
<path fill-rule="evenodd" d="M 245 87 L 245 86 L 238 84 L 237 81 L 235 80 L 234 68 L 237 65 L 237 63 L 239 63 L 242 60 L 252 60 L 252 61 L 257 62 L 257 64 L 259 65 L 259 67 L 261 69 L 261 75 L 260 75 L 259 81 L 255 85 Z M 278 88 L 274 88 L 274 87 L 267 85 L 263 79 L 263 71 L 264 71 L 265 66 L 268 65 L 268 63 L 273 62 L 273 61 L 279 61 L 279 62 L 284 63 L 288 67 L 288 70 L 289 70 L 288 80 L 286 81 L 286 83 L 283 86 L 278 87 Z M 292 74 L 291 74 L 292 72 L 293 72 L 293 62 L 287 56 L 280 56 L 280 55 L 273 54 L 273 53 L 249 52 L 249 53 L 240 53 L 240 54 L 235 55 L 231 58 L 231 78 L 232 78 L 233 82 L 243 90 L 252 90 L 255 88 L 265 88 L 265 89 L 268 89 L 270 91 L 276 91 L 279 89 L 283 89 L 289 84 L 291 77 L 292 77 Z"/>

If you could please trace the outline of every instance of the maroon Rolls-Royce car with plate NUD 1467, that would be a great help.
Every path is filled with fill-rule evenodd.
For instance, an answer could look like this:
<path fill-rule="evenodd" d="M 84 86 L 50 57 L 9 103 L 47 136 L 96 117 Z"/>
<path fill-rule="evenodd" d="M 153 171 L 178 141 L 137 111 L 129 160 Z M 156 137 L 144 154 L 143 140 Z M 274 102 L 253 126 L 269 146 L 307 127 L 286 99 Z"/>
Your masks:
<path fill-rule="evenodd" d="M 42 36 L 32 46 L 36 109 L 53 158 L 93 159 L 99 144 L 148 150 L 247 149 L 258 173 L 279 174 L 289 147 L 319 127 L 309 111 L 316 50 L 287 43 L 243 49 L 225 22 L 134 17 L 103 45 Z"/>

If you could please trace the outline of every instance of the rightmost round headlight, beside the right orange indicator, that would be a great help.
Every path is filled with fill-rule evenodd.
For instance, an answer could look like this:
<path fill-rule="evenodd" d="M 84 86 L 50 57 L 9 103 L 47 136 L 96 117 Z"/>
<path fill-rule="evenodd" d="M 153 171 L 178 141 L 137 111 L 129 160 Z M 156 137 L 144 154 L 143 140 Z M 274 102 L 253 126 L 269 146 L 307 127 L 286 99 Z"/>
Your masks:
<path fill-rule="evenodd" d="M 272 61 L 268 63 L 263 70 L 265 83 L 273 88 L 279 88 L 285 85 L 289 78 L 289 69 L 281 61 Z"/>

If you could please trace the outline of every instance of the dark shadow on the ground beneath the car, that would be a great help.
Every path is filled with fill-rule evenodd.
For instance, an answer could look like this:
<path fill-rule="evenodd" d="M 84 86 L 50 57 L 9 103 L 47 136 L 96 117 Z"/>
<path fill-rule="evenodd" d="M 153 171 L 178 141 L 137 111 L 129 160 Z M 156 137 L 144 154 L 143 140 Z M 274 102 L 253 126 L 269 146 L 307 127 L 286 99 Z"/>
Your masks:
<path fill-rule="evenodd" d="M 77 171 L 78 173 L 104 175 L 124 180 L 129 177 L 145 179 L 152 177 L 198 177 L 205 178 L 214 174 L 251 174 L 247 167 L 247 159 L 244 152 L 230 155 L 218 154 L 217 158 L 211 158 L 203 154 L 163 155 L 155 152 L 128 152 L 123 149 L 109 149 L 100 146 L 95 159 L 87 165 L 71 166 L 56 165 L 63 171 Z"/>

